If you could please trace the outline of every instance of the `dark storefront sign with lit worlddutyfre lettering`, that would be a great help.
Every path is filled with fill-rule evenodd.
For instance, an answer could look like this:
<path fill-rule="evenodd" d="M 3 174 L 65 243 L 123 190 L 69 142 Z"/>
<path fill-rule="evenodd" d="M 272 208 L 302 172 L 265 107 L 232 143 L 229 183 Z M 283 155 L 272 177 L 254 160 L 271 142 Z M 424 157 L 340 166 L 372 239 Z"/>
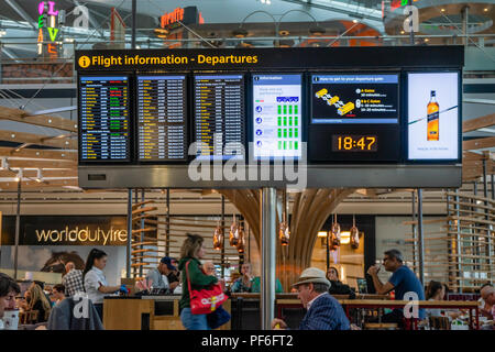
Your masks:
<path fill-rule="evenodd" d="M 14 245 L 15 217 L 3 217 L 1 244 Z M 20 245 L 125 245 L 127 218 L 21 217 Z"/>

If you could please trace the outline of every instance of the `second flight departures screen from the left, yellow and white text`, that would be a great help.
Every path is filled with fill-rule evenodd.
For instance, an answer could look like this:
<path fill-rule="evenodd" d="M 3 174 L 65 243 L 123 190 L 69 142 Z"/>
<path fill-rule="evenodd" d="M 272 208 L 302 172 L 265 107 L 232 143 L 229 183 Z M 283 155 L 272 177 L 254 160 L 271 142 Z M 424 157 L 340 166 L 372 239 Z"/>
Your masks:
<path fill-rule="evenodd" d="M 187 158 L 186 76 L 138 76 L 139 160 Z"/>

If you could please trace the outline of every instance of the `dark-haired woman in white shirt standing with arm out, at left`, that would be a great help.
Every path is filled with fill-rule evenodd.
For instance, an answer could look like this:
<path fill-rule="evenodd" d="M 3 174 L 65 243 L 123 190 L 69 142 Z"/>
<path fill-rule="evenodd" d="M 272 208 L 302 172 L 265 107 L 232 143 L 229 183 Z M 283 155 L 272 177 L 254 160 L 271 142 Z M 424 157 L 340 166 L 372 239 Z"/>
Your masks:
<path fill-rule="evenodd" d="M 121 286 L 109 286 L 103 274 L 107 266 L 107 253 L 92 249 L 88 254 L 82 272 L 82 282 L 88 298 L 91 299 L 98 316 L 103 321 L 103 297 L 121 289 Z"/>

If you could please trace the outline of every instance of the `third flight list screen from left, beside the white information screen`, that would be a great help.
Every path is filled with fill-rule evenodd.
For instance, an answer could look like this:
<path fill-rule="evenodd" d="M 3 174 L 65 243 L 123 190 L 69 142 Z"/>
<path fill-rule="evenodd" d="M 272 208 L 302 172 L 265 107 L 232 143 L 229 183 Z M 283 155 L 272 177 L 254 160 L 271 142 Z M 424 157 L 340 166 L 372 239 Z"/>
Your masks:
<path fill-rule="evenodd" d="M 242 158 L 245 144 L 244 77 L 196 75 L 194 125 L 199 160 Z"/>

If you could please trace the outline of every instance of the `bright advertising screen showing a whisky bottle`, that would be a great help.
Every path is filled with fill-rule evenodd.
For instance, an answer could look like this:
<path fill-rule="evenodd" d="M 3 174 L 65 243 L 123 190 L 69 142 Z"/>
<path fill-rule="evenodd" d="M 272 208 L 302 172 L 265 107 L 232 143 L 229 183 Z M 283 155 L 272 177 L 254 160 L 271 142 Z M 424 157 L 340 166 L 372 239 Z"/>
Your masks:
<path fill-rule="evenodd" d="M 459 74 L 407 75 L 408 158 L 459 157 Z"/>

